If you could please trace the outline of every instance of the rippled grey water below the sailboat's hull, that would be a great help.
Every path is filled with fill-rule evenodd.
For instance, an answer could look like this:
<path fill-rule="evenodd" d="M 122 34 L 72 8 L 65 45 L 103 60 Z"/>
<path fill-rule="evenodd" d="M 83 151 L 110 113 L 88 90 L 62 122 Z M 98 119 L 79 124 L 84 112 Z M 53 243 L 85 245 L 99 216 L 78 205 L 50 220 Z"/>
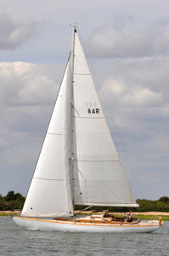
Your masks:
<path fill-rule="evenodd" d="M 25 230 L 0 217 L 0 255 L 169 255 L 169 222 L 150 234 Z"/>

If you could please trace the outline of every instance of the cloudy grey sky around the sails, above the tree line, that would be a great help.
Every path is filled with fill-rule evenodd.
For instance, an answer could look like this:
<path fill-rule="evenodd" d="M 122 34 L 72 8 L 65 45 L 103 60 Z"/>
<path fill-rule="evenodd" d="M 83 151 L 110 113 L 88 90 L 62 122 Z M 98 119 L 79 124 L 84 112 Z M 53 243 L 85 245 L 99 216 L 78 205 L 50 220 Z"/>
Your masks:
<path fill-rule="evenodd" d="M 0 194 L 26 195 L 78 27 L 135 198 L 169 196 L 169 3 L 0 0 Z"/>

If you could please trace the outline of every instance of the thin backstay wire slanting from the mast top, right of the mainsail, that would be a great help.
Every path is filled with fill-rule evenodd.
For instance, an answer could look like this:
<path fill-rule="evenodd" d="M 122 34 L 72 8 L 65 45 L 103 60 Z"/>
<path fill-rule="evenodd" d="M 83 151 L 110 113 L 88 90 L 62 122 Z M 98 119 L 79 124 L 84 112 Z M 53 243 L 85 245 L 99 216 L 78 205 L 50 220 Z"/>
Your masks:
<path fill-rule="evenodd" d="M 108 112 L 109 112 L 109 114 L 110 114 L 110 117 L 111 117 L 111 119 L 112 119 L 112 121 L 113 121 L 113 124 L 114 124 L 114 126 L 115 126 L 115 131 L 116 131 L 116 133 L 117 133 L 117 135 L 118 135 L 118 137 L 119 137 L 119 139 L 120 139 L 121 147 L 122 147 L 122 149 L 123 149 L 123 151 L 124 151 L 124 153 L 125 153 L 125 155 L 126 155 L 126 157 L 127 157 L 127 161 L 128 161 L 128 163 L 129 163 L 130 169 L 131 169 L 131 171 L 132 171 L 132 175 L 133 175 L 133 177 L 134 177 L 134 179 L 135 179 L 135 181 L 136 181 L 136 183 L 137 183 L 137 185 L 138 185 L 138 180 L 137 180 L 137 178 L 136 178 L 136 176 L 135 176 L 135 174 L 134 174 L 134 172 L 133 172 L 132 165 L 131 165 L 130 160 L 129 160 L 128 155 L 127 155 L 127 151 L 126 151 L 126 149 L 124 148 L 124 145 L 123 145 L 123 143 L 122 143 L 122 141 L 121 141 L 121 137 L 120 137 L 120 135 L 119 135 L 119 131 L 117 130 L 117 127 L 116 127 L 116 125 L 115 125 L 115 121 L 114 121 L 114 119 L 113 119 L 113 117 L 112 117 L 112 114 L 110 113 L 110 108 L 108 107 L 108 104 L 107 104 L 107 102 L 106 102 L 106 100 L 105 100 L 104 93 L 103 93 L 103 91 L 102 91 L 102 89 L 101 89 L 101 86 L 100 86 L 100 84 L 99 84 L 99 80 L 97 79 L 96 73 L 94 72 L 93 65 L 92 65 L 92 61 L 90 60 L 90 58 L 89 58 L 89 56 L 88 56 L 88 54 L 87 54 L 87 49 L 86 49 L 85 45 L 83 44 L 82 36 L 81 36 L 81 33 L 79 32 L 79 30 L 78 30 L 78 34 L 80 35 L 81 43 L 82 43 L 83 49 L 85 50 L 85 55 L 87 55 L 87 59 L 88 59 L 88 61 L 89 61 L 89 63 L 90 63 L 90 66 L 92 67 L 94 77 L 95 77 L 95 79 L 96 79 L 96 81 L 97 81 L 97 84 L 99 85 L 99 90 L 100 90 L 100 92 L 101 92 L 101 94 L 102 94 L 102 96 L 103 96 L 105 107 L 107 108 L 107 110 L 108 110 Z M 124 170 L 124 169 L 123 169 L 123 170 Z M 125 171 L 124 171 L 124 172 L 125 172 Z M 125 173 L 126 173 L 126 172 L 125 172 Z M 126 175 L 127 175 L 127 173 L 126 173 Z M 137 193 L 136 193 L 135 189 L 133 188 L 131 182 L 130 182 L 130 184 L 131 184 L 131 187 L 132 187 L 132 190 L 133 190 L 134 194 L 137 196 Z M 143 196 L 143 194 L 142 194 L 142 191 L 141 191 L 139 185 L 138 185 L 138 190 L 139 190 L 140 195 L 142 196 L 142 198 L 144 198 L 144 196 Z M 138 196 L 137 196 L 137 197 L 138 197 Z"/>

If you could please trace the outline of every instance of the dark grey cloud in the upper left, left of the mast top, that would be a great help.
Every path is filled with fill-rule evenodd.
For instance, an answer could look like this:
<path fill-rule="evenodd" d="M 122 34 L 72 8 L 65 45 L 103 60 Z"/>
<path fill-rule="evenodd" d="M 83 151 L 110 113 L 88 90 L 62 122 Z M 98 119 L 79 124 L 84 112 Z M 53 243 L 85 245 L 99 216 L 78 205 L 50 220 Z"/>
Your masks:
<path fill-rule="evenodd" d="M 44 22 L 19 20 L 13 15 L 0 13 L 0 50 L 14 50 L 29 40 L 40 37 Z"/>

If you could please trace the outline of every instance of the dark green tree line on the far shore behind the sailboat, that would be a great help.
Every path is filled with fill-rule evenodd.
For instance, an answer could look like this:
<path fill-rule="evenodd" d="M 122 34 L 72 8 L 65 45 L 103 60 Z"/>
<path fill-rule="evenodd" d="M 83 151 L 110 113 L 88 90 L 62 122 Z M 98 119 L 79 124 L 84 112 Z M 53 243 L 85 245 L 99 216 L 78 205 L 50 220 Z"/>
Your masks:
<path fill-rule="evenodd" d="M 14 211 L 21 210 L 24 206 L 25 197 L 20 193 L 8 191 L 8 194 L 0 195 L 0 211 Z M 133 212 L 169 212 L 169 197 L 162 196 L 159 200 L 151 201 L 146 199 L 138 199 L 138 208 L 132 208 Z M 81 211 L 84 206 L 75 206 L 75 210 Z M 93 212 L 129 212 L 128 207 L 91 207 L 88 209 Z"/>

